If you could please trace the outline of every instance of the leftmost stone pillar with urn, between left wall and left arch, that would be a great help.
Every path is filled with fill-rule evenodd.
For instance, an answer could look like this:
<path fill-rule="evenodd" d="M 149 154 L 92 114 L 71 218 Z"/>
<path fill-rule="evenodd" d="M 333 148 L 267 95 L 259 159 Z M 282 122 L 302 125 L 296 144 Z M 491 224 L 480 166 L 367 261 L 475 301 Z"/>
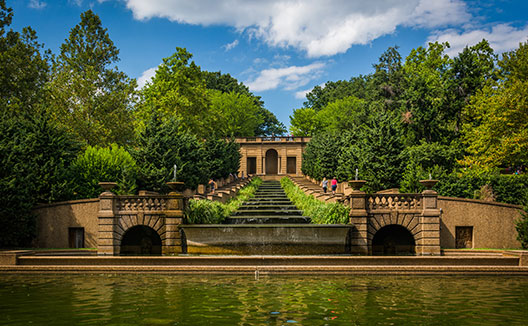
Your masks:
<path fill-rule="evenodd" d="M 111 185 L 111 183 L 105 183 Z M 114 183 L 115 186 L 115 183 Z M 99 212 L 97 219 L 99 231 L 97 233 L 97 254 L 98 255 L 118 255 L 119 244 L 115 239 L 117 220 L 117 196 L 108 187 L 105 192 L 99 195 Z"/>

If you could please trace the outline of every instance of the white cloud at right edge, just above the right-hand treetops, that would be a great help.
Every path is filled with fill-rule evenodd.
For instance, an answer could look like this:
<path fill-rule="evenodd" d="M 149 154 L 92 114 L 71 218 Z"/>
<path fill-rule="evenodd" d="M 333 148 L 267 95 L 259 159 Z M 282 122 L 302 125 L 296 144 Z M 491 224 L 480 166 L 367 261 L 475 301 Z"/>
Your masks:
<path fill-rule="evenodd" d="M 459 32 L 456 30 L 437 31 L 429 37 L 428 42 L 449 42 L 451 46 L 446 53 L 450 57 L 458 55 L 466 46 L 472 46 L 486 39 L 497 53 L 509 51 L 519 46 L 520 42 L 528 39 L 528 25 L 515 28 L 509 24 L 498 24 L 491 30 L 470 30 Z"/>

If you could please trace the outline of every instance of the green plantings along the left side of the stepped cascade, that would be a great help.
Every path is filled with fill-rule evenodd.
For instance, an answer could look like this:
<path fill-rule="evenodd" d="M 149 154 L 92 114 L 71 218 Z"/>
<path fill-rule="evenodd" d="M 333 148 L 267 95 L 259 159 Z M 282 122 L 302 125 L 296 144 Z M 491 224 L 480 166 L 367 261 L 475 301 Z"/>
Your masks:
<path fill-rule="evenodd" d="M 255 196 L 257 188 L 262 179 L 254 178 L 251 182 L 240 189 L 236 197 L 227 203 L 207 199 L 191 199 L 185 211 L 187 223 L 189 224 L 220 224 L 232 213 L 234 213 L 243 202 Z"/>

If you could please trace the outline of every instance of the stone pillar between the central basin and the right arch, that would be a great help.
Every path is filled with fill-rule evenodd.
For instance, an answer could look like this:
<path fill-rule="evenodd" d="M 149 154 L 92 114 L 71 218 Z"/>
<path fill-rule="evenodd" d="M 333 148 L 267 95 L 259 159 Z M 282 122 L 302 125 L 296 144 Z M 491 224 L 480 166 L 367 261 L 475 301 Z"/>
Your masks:
<path fill-rule="evenodd" d="M 369 254 L 368 246 L 368 212 L 366 193 L 354 190 L 347 196 L 350 205 L 350 224 L 354 225 L 350 234 L 350 249 L 353 254 Z"/>

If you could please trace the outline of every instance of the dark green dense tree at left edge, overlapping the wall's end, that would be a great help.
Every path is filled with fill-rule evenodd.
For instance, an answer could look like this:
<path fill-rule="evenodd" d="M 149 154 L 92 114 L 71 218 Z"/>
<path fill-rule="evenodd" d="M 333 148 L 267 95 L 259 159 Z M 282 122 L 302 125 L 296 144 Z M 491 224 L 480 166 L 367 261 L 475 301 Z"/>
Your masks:
<path fill-rule="evenodd" d="M 28 245 L 37 203 L 72 198 L 79 146 L 45 113 L 0 119 L 0 247 Z"/>

